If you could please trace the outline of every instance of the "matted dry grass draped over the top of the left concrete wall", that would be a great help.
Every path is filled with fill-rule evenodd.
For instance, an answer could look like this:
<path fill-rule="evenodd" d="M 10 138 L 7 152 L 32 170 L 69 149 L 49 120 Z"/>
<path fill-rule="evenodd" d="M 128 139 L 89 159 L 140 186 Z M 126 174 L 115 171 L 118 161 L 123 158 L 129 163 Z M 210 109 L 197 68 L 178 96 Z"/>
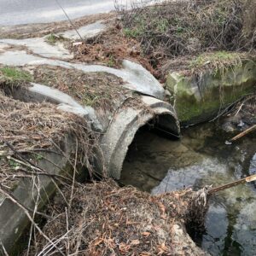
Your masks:
<path fill-rule="evenodd" d="M 15 101 L 0 90 L 0 183 L 14 189 L 20 178 L 36 174 L 30 161 L 40 160 L 40 152 L 61 148 L 67 136 L 79 141 L 78 162 L 89 160 L 96 137 L 85 120 L 63 113 L 48 103 Z M 20 161 L 21 160 L 21 161 Z M 29 172 L 28 172 L 29 171 Z"/>

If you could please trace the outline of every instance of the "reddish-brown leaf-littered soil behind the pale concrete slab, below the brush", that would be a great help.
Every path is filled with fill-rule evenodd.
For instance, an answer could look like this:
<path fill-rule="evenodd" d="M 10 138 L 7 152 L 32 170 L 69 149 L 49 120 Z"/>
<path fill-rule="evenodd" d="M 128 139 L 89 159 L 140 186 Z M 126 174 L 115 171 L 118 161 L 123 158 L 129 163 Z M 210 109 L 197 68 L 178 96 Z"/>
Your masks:
<path fill-rule="evenodd" d="M 125 37 L 117 18 L 110 22 L 107 32 L 88 39 L 85 44 L 73 46 L 71 51 L 74 53 L 74 61 L 119 68 L 121 61 L 126 59 L 140 63 L 155 77 L 159 76 L 148 57 L 143 55 L 140 43 L 136 39 Z"/>

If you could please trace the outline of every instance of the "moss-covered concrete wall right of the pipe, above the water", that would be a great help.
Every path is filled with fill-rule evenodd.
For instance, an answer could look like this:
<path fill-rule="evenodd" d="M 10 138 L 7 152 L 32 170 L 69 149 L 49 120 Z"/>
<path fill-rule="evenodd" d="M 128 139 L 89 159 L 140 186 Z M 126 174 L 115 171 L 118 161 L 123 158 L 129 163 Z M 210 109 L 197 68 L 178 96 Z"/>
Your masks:
<path fill-rule="evenodd" d="M 166 87 L 182 123 L 199 123 L 212 118 L 221 108 L 253 92 L 256 62 L 243 60 L 229 67 L 206 70 L 201 75 L 169 73 Z"/>

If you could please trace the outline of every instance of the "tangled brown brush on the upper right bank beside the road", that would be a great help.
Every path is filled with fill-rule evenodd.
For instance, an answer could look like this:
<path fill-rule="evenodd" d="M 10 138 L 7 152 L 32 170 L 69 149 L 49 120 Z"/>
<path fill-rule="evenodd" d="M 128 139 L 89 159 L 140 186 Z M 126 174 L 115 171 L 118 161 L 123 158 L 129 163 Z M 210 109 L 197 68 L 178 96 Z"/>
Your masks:
<path fill-rule="evenodd" d="M 163 59 L 207 51 L 256 48 L 253 1 L 166 1 L 119 12 L 125 36 L 141 42 L 144 54 L 156 64 Z"/>

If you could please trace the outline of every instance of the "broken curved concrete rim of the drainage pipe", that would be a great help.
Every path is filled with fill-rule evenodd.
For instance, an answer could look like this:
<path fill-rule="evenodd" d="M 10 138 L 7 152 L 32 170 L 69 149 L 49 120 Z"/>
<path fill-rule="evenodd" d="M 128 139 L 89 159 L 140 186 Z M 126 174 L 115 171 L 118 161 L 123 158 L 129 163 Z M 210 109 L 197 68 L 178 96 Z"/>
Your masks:
<path fill-rule="evenodd" d="M 156 125 L 160 125 L 163 130 L 177 135 L 180 132 L 177 116 L 171 105 L 150 96 L 142 96 L 141 99 L 144 106 L 140 108 L 119 108 L 101 139 L 102 154 L 98 154 L 98 159 L 103 158 L 108 176 L 115 179 L 121 176 L 125 155 L 138 129 L 148 121 L 155 119 L 158 123 Z M 150 111 L 145 111 L 143 107 Z"/>

